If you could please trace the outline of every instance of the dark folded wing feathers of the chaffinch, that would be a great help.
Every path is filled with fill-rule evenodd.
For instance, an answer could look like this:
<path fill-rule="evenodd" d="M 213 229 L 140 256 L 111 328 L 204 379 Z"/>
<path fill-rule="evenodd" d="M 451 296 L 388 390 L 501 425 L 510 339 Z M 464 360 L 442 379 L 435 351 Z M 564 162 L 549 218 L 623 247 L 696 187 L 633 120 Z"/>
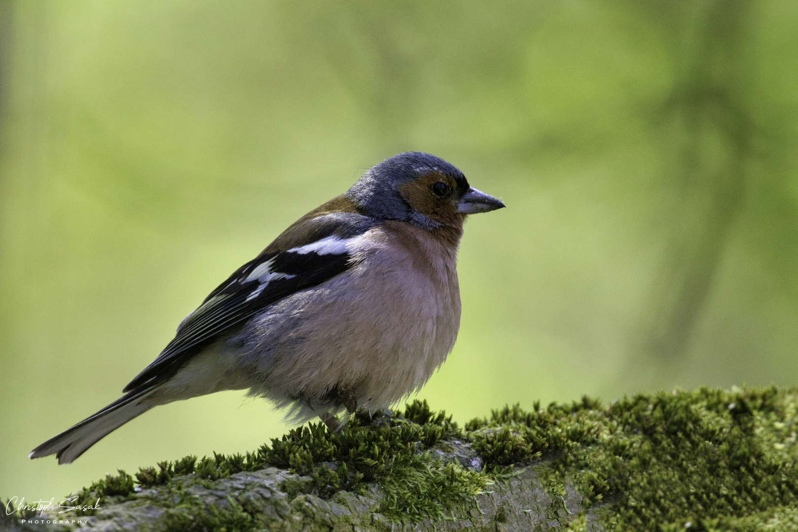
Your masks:
<path fill-rule="evenodd" d="M 377 219 L 369 216 L 334 213 L 309 219 L 298 227 L 290 227 L 289 238 L 283 234 L 275 240 L 279 241 L 282 249 L 274 249 L 275 244 L 271 244 L 258 257 L 235 270 L 225 282 L 216 287 L 202 305 L 180 325 L 176 337 L 156 360 L 125 386 L 124 392 L 144 384 L 152 386 L 167 380 L 189 358 L 231 326 L 247 320 L 260 310 L 299 290 L 334 278 L 351 266 L 350 255 L 346 253 L 318 254 L 310 251 L 300 254 L 290 251 L 291 249 L 333 235 L 350 238 L 368 231 L 377 223 Z M 247 276 L 268 261 L 272 261 L 269 267 L 271 272 L 285 274 L 286 277 L 272 279 L 259 294 L 254 295 L 261 282 L 258 278 L 247 281 Z"/>

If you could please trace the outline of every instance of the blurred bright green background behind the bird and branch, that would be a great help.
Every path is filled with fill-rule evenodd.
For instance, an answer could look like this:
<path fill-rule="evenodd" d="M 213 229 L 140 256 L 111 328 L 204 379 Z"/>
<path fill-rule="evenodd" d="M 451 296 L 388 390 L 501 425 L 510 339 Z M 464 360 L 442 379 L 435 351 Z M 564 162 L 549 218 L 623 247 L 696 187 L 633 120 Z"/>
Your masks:
<path fill-rule="evenodd" d="M 26 458 L 407 150 L 508 205 L 467 224 L 434 408 L 798 380 L 796 2 L 4 0 L 0 37 L 4 498 L 285 432 L 227 392 Z"/>

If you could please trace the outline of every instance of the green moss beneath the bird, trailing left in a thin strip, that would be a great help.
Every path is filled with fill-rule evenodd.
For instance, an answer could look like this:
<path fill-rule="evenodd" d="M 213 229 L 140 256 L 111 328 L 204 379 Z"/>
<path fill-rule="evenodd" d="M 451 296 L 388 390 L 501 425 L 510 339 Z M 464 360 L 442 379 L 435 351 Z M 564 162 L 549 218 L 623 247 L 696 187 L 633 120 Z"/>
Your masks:
<path fill-rule="evenodd" d="M 282 487 L 290 498 L 310 493 L 329 499 L 338 491 L 365 494 L 377 483 L 383 495 L 382 514 L 401 522 L 442 519 L 456 508 L 473 502 L 490 479 L 458 464 L 434 459 L 429 448 L 444 439 L 464 437 L 444 412 L 433 412 L 426 401 L 414 401 L 405 412 L 370 416 L 358 412 L 339 432 L 324 424 L 307 424 L 272 439 L 246 455 L 213 458 L 187 456 L 161 462 L 136 473 L 142 487 L 168 485 L 179 475 L 196 473 L 215 480 L 241 471 L 267 466 L 310 477 L 310 483 L 291 482 Z M 178 518 L 183 519 L 183 518 Z"/>

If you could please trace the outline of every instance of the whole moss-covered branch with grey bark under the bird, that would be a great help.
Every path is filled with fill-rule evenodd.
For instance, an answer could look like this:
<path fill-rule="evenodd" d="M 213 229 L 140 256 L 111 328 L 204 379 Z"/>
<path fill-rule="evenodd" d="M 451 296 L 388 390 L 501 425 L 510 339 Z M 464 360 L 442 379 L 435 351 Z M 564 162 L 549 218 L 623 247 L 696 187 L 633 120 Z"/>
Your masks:
<path fill-rule="evenodd" d="M 19 511 L 2 526 L 798 530 L 796 405 L 794 389 L 701 388 L 515 405 L 460 428 L 415 401 L 340 432 L 310 424 L 245 455 L 144 467 L 135 483 L 119 471 L 78 492 L 69 519 Z"/>

